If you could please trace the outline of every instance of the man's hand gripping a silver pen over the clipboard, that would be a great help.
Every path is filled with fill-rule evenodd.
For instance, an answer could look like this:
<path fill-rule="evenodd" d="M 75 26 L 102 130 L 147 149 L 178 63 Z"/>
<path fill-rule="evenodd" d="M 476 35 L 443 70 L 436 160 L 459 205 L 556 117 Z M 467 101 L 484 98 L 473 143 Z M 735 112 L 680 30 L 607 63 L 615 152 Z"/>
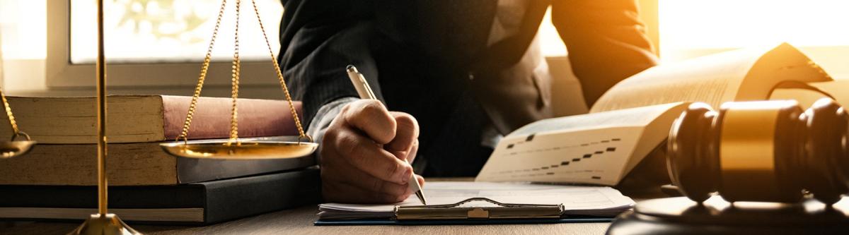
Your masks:
<path fill-rule="evenodd" d="M 380 101 L 353 101 L 324 133 L 322 193 L 331 202 L 395 203 L 412 191 L 408 181 L 419 150 L 419 123 L 404 112 L 389 112 Z M 404 161 L 407 160 L 407 161 Z M 416 176 L 424 185 L 424 178 Z"/>

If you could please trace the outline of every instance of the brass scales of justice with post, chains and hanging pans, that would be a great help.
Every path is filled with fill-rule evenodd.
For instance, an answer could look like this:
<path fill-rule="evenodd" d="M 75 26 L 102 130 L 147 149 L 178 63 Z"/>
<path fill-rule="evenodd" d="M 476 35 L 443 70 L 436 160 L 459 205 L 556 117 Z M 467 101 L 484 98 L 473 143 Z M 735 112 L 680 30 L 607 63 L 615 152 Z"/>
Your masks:
<path fill-rule="evenodd" d="M 220 139 L 215 141 L 197 142 L 188 140 L 188 131 L 192 124 L 192 116 L 197 106 L 200 91 L 203 89 L 206 72 L 211 63 L 211 52 L 215 46 L 218 28 L 221 25 L 224 9 L 227 6 L 227 0 L 222 0 L 221 9 L 218 12 L 216 19 L 215 30 L 213 30 L 209 48 L 207 49 L 203 66 L 200 70 L 198 84 L 194 88 L 194 95 L 186 120 L 183 123 L 182 133 L 172 143 L 160 144 L 162 150 L 177 157 L 191 158 L 208 158 L 208 159 L 227 159 L 227 160 L 249 160 L 249 159 L 280 159 L 308 156 L 318 149 L 318 144 L 312 142 L 312 137 L 304 133 L 301 127 L 301 120 L 298 118 L 295 107 L 292 105 L 292 98 L 289 94 L 289 89 L 286 87 L 283 73 L 280 70 L 277 60 L 274 57 L 271 49 L 271 44 L 268 41 L 265 28 L 260 19 L 259 10 L 256 7 L 256 1 L 251 0 L 256 19 L 259 22 L 262 35 L 265 37 L 266 45 L 268 46 L 269 57 L 275 71 L 280 86 L 284 91 L 286 101 L 289 102 L 292 117 L 295 119 L 295 127 L 298 129 L 298 139 L 296 142 L 288 141 L 269 141 L 269 140 L 241 140 L 239 139 L 239 123 L 237 120 L 239 107 L 237 99 L 239 98 L 239 7 L 240 0 L 235 0 L 235 33 L 234 33 L 234 50 L 233 50 L 233 66 L 232 66 L 232 98 L 233 107 L 230 117 L 230 137 L 229 139 Z M 98 214 L 93 214 L 86 221 L 77 227 L 69 234 L 141 234 L 132 227 L 127 226 L 124 221 L 121 221 L 115 214 L 110 214 L 107 210 L 107 182 L 106 182 L 106 63 L 104 56 L 104 9 L 103 0 L 97 1 L 98 5 L 98 58 L 96 62 L 96 79 L 97 79 L 97 133 L 98 133 Z M 6 142 L 0 142 L 0 158 L 10 157 L 25 157 L 24 155 L 37 144 L 29 135 L 18 128 L 14 120 L 11 107 L 6 101 L 6 96 L 0 90 L 0 98 L 3 101 L 6 115 L 8 116 L 9 125 L 12 127 L 14 134 L 12 139 Z"/>

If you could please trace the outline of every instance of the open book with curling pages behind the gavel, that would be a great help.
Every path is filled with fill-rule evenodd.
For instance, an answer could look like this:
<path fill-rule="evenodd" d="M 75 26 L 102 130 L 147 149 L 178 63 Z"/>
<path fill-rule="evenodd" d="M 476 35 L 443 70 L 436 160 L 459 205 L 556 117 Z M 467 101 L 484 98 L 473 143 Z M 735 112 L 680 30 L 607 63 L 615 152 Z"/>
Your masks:
<path fill-rule="evenodd" d="M 475 180 L 615 185 L 661 145 L 689 102 L 809 104 L 837 86 L 787 43 L 655 66 L 613 86 L 588 114 L 541 120 L 505 136 Z"/>

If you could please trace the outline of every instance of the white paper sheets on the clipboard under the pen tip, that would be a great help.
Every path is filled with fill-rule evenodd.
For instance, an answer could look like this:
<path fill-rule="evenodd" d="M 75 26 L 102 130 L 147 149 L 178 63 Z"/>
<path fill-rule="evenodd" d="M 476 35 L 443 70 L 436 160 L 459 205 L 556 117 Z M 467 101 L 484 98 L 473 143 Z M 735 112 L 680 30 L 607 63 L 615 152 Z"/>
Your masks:
<path fill-rule="evenodd" d="M 454 204 L 464 199 L 484 197 L 509 204 L 562 204 L 567 211 L 580 215 L 615 216 L 631 208 L 633 200 L 608 187 L 544 185 L 531 183 L 430 182 L 427 183 L 429 205 Z M 325 203 L 318 205 L 321 219 L 363 219 L 394 216 L 396 205 L 421 205 L 409 197 L 391 205 L 357 205 Z M 463 206 L 498 206 L 474 202 Z M 572 214 L 577 215 L 577 214 Z"/>

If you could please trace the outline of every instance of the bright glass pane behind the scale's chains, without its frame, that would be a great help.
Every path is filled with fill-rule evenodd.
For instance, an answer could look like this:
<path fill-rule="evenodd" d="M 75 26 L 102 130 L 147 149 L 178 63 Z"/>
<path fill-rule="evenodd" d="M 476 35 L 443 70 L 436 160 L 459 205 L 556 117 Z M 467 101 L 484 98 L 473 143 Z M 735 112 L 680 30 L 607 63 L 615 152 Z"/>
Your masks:
<path fill-rule="evenodd" d="M 228 1 L 213 58 L 233 57 L 235 2 Z M 267 36 L 276 54 L 283 6 L 278 0 L 256 0 Z M 107 59 L 114 63 L 201 62 L 216 25 L 221 0 L 106 0 L 104 40 Z M 97 58 L 97 3 L 70 3 L 70 62 L 94 63 Z M 268 61 L 250 0 L 242 1 L 239 17 L 239 57 Z"/>

